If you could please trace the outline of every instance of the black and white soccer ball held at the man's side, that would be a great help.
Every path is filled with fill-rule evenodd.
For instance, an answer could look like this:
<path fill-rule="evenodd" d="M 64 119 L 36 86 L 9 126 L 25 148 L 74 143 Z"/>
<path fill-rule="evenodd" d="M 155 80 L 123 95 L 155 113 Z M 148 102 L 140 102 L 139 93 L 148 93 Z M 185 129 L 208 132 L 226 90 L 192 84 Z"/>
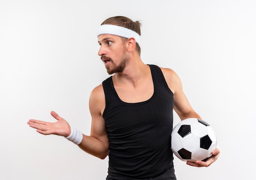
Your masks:
<path fill-rule="evenodd" d="M 188 118 L 178 123 L 171 133 L 171 149 L 184 161 L 206 161 L 216 149 L 213 128 L 201 119 Z"/>

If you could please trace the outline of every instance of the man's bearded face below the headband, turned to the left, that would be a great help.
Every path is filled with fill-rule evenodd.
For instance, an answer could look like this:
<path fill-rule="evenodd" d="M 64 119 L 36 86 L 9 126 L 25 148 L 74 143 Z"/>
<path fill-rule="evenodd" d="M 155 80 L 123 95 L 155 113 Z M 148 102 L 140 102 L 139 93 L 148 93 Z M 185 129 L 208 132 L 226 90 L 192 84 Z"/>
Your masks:
<path fill-rule="evenodd" d="M 105 64 L 108 74 L 122 72 L 128 60 L 126 46 L 121 37 L 103 34 L 98 36 L 101 46 L 98 55 Z"/>

